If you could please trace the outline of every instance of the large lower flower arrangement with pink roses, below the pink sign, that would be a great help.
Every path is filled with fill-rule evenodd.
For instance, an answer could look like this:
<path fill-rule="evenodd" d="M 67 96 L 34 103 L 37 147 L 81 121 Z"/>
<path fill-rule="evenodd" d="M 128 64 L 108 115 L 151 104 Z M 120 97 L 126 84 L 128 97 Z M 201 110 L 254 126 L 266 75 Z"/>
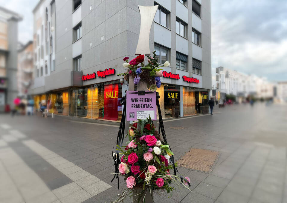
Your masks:
<path fill-rule="evenodd" d="M 147 191 L 151 193 L 155 190 L 166 190 L 170 193 L 175 189 L 170 184 L 176 183 L 179 186 L 182 179 L 187 187 L 190 182 L 188 177 L 170 174 L 170 170 L 177 167 L 177 163 L 170 164 L 173 153 L 169 145 L 161 140 L 150 117 L 134 123 L 127 136 L 129 142 L 126 142 L 126 146 L 117 145 L 117 150 L 122 156 L 119 173 L 114 173 L 125 177 L 127 188 L 113 203 L 123 202 L 127 196 L 132 196 L 135 187 L 142 188 L 137 202 L 145 201 Z"/>

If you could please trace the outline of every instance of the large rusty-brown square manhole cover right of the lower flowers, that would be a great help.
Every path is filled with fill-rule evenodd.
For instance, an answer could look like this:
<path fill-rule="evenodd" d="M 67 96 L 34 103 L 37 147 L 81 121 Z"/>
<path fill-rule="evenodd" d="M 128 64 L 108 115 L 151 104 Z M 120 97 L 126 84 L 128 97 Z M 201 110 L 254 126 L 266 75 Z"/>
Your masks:
<path fill-rule="evenodd" d="M 219 152 L 203 149 L 190 149 L 181 159 L 178 166 L 208 172 Z"/>

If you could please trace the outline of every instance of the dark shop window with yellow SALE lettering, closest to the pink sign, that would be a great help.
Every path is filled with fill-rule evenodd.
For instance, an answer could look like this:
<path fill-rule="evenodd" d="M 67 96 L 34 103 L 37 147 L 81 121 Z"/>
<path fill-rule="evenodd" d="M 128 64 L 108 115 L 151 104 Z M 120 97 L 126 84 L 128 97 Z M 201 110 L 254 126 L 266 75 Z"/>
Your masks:
<path fill-rule="evenodd" d="M 166 118 L 180 117 L 179 85 L 164 84 L 164 115 Z"/>

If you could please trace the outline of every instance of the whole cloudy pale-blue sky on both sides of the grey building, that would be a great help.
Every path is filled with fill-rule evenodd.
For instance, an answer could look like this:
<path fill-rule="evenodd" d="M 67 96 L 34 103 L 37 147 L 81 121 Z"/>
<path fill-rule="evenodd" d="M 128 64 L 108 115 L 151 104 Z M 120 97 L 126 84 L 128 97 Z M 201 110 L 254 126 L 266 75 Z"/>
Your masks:
<path fill-rule="evenodd" d="M 0 0 L 23 16 L 19 41 L 24 44 L 33 37 L 32 10 L 38 1 Z M 212 70 L 223 66 L 270 81 L 287 80 L 286 10 L 286 0 L 211 0 Z"/>

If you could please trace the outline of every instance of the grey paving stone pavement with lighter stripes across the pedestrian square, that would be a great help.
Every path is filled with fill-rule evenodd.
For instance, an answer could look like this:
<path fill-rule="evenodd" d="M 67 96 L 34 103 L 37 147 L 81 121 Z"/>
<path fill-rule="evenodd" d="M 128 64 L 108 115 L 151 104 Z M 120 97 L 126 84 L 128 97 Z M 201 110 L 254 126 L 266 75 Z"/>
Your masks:
<path fill-rule="evenodd" d="M 263 103 L 165 120 L 178 160 L 190 148 L 219 151 L 209 173 L 178 167 L 190 190 L 155 193 L 155 202 L 287 202 L 287 106 Z M 186 127 L 176 130 L 170 127 Z M 64 116 L 0 115 L 0 202 L 111 202 L 120 193 L 112 149 L 118 126 Z M 120 187 L 125 181 L 120 178 Z M 131 202 L 127 199 L 126 202 Z"/>

